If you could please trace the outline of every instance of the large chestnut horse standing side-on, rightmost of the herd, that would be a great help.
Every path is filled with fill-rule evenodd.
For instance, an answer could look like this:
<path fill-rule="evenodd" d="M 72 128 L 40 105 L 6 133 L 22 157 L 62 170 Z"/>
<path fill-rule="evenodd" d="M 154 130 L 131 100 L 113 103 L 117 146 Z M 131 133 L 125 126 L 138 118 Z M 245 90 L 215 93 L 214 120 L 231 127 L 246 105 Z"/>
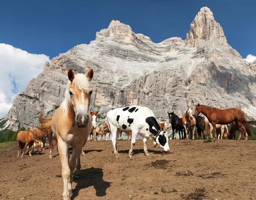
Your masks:
<path fill-rule="evenodd" d="M 239 139 L 241 139 L 242 125 L 244 125 L 247 134 L 251 135 L 247 120 L 244 118 L 244 111 L 240 110 L 239 108 L 233 107 L 230 109 L 221 110 L 218 108 L 198 104 L 195 105 L 195 116 L 198 116 L 199 113 L 203 113 L 212 124 L 214 130 L 214 139 L 217 138 L 216 124 L 227 125 L 234 121 L 238 123 L 240 133 Z"/>

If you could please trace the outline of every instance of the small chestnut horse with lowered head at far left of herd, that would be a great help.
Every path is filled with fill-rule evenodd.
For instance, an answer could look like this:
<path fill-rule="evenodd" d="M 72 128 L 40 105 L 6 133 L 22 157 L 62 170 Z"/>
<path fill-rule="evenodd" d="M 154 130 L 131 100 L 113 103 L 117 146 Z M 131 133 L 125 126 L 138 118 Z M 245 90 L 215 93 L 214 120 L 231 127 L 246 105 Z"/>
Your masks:
<path fill-rule="evenodd" d="M 32 130 L 21 130 L 17 133 L 17 145 L 18 145 L 18 155 L 23 157 L 24 153 L 26 152 L 26 147 L 29 146 L 29 156 L 31 155 L 31 148 L 35 142 L 35 148 L 38 149 L 38 152 L 41 152 L 41 142 L 40 140 L 33 134 Z M 20 152 L 21 151 L 21 152 Z M 22 152 L 23 151 L 23 152 Z"/>

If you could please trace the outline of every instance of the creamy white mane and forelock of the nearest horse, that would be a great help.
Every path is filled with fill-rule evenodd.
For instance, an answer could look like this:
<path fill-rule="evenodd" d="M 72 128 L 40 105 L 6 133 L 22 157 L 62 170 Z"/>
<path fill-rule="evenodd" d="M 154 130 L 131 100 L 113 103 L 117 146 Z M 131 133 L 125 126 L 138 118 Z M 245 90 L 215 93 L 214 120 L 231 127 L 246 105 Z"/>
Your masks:
<path fill-rule="evenodd" d="M 86 93 L 89 93 L 92 90 L 92 85 L 89 81 L 89 78 L 86 77 L 85 74 L 76 74 L 75 78 L 72 81 L 72 84 L 74 84 L 75 88 L 78 90 L 83 90 Z M 61 110 L 64 112 L 64 115 L 67 113 L 67 109 L 70 106 L 70 93 L 69 89 L 71 86 L 71 81 L 67 81 L 67 90 L 65 91 L 65 99 L 61 103 Z"/>

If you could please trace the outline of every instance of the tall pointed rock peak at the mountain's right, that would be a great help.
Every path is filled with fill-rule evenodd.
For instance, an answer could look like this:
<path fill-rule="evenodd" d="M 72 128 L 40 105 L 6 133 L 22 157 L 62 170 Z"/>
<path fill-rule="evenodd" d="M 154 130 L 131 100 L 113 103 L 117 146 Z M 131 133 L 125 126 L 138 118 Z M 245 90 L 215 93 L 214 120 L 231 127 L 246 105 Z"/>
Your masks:
<path fill-rule="evenodd" d="M 203 7 L 190 24 L 186 43 L 197 47 L 206 41 L 209 41 L 212 46 L 227 45 L 221 25 L 215 21 L 211 10 L 208 7 Z"/>

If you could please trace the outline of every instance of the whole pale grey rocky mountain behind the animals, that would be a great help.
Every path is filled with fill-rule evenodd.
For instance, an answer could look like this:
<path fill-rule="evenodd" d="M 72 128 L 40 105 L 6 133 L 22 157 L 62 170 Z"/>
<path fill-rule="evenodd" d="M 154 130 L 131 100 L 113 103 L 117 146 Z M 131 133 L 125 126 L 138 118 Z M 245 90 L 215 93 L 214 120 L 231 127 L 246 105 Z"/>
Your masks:
<path fill-rule="evenodd" d="M 41 111 L 51 116 L 64 98 L 67 70 L 94 70 L 91 110 L 105 121 L 108 110 L 143 105 L 159 121 L 167 111 L 181 116 L 192 101 L 218 108 L 239 107 L 256 119 L 255 64 L 228 45 L 223 29 L 207 7 L 190 25 L 186 41 L 153 43 L 131 27 L 112 21 L 89 45 L 77 45 L 44 65 L 17 95 L 6 116 L 11 127 L 34 127 Z"/>

